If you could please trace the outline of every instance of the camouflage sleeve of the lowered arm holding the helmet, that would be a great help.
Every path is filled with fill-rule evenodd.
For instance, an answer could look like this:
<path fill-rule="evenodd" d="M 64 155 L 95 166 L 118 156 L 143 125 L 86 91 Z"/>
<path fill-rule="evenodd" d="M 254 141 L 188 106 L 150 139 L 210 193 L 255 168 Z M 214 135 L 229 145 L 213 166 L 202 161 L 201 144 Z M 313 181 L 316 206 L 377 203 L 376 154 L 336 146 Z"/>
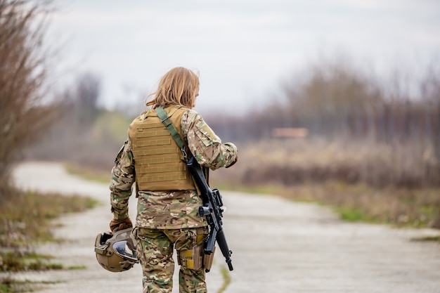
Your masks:
<path fill-rule="evenodd" d="M 113 219 L 122 220 L 129 217 L 129 197 L 135 178 L 131 141 L 127 140 L 119 150 L 115 166 L 112 168 L 109 188 Z"/>

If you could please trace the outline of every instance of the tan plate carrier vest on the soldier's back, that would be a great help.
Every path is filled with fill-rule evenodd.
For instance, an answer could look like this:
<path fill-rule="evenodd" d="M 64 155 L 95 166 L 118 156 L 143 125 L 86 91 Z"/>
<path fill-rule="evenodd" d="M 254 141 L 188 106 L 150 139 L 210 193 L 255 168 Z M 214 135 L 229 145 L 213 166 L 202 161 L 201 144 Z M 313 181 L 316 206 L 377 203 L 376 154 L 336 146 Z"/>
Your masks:
<path fill-rule="evenodd" d="M 181 119 L 188 110 L 173 105 L 164 109 L 181 135 Z M 146 110 L 129 126 L 138 190 L 195 190 L 182 152 L 155 110 Z M 182 140 L 183 141 L 183 140 Z M 185 145 L 189 154 L 188 146 Z"/>

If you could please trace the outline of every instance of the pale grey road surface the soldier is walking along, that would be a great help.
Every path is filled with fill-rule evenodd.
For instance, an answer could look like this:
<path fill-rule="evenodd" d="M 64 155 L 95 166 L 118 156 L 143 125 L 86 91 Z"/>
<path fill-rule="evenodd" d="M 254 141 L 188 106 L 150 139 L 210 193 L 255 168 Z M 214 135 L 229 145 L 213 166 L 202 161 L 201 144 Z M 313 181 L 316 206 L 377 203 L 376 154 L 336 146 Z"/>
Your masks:
<path fill-rule="evenodd" d="M 62 244 L 39 247 L 55 262 L 85 269 L 20 273 L 22 280 L 48 282 L 44 293 L 142 292 L 141 268 L 110 273 L 98 265 L 93 252 L 96 234 L 108 230 L 108 186 L 68 176 L 60 164 L 25 163 L 14 173 L 25 189 L 65 191 L 93 196 L 101 205 L 81 214 L 64 216 L 56 235 Z M 290 202 L 273 196 L 223 192 L 225 231 L 233 250 L 234 271 L 224 274 L 219 252 L 207 274 L 208 291 L 308 293 L 439 293 L 440 245 L 413 241 L 439 235 L 432 229 L 394 229 L 344 223 L 329 209 Z M 131 198 L 134 219 L 136 200 Z M 177 280 L 173 292 L 178 292 Z"/>

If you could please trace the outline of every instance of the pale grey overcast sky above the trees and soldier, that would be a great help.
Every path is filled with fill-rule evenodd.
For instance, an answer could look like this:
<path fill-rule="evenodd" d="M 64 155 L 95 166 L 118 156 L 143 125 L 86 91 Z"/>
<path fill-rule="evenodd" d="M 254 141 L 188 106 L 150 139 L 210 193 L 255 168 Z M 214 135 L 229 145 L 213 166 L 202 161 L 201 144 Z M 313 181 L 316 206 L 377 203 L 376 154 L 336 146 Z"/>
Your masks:
<path fill-rule="evenodd" d="M 440 53 L 437 0 L 58 0 L 48 44 L 56 75 L 101 77 L 100 101 L 141 93 L 172 67 L 200 72 L 196 110 L 242 112 L 264 103 L 320 56 L 347 54 L 378 71 Z M 438 60 L 438 58 L 437 58 Z"/>

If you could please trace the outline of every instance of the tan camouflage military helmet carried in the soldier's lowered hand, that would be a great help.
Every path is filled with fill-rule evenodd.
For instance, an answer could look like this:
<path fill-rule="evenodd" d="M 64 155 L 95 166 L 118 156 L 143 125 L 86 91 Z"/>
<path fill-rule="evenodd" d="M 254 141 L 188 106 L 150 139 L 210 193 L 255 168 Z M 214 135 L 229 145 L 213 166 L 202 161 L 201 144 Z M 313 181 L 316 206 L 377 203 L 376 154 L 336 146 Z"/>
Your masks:
<path fill-rule="evenodd" d="M 138 262 L 136 240 L 131 234 L 132 228 L 105 232 L 96 236 L 95 252 L 98 263 L 110 272 L 128 271 Z"/>

